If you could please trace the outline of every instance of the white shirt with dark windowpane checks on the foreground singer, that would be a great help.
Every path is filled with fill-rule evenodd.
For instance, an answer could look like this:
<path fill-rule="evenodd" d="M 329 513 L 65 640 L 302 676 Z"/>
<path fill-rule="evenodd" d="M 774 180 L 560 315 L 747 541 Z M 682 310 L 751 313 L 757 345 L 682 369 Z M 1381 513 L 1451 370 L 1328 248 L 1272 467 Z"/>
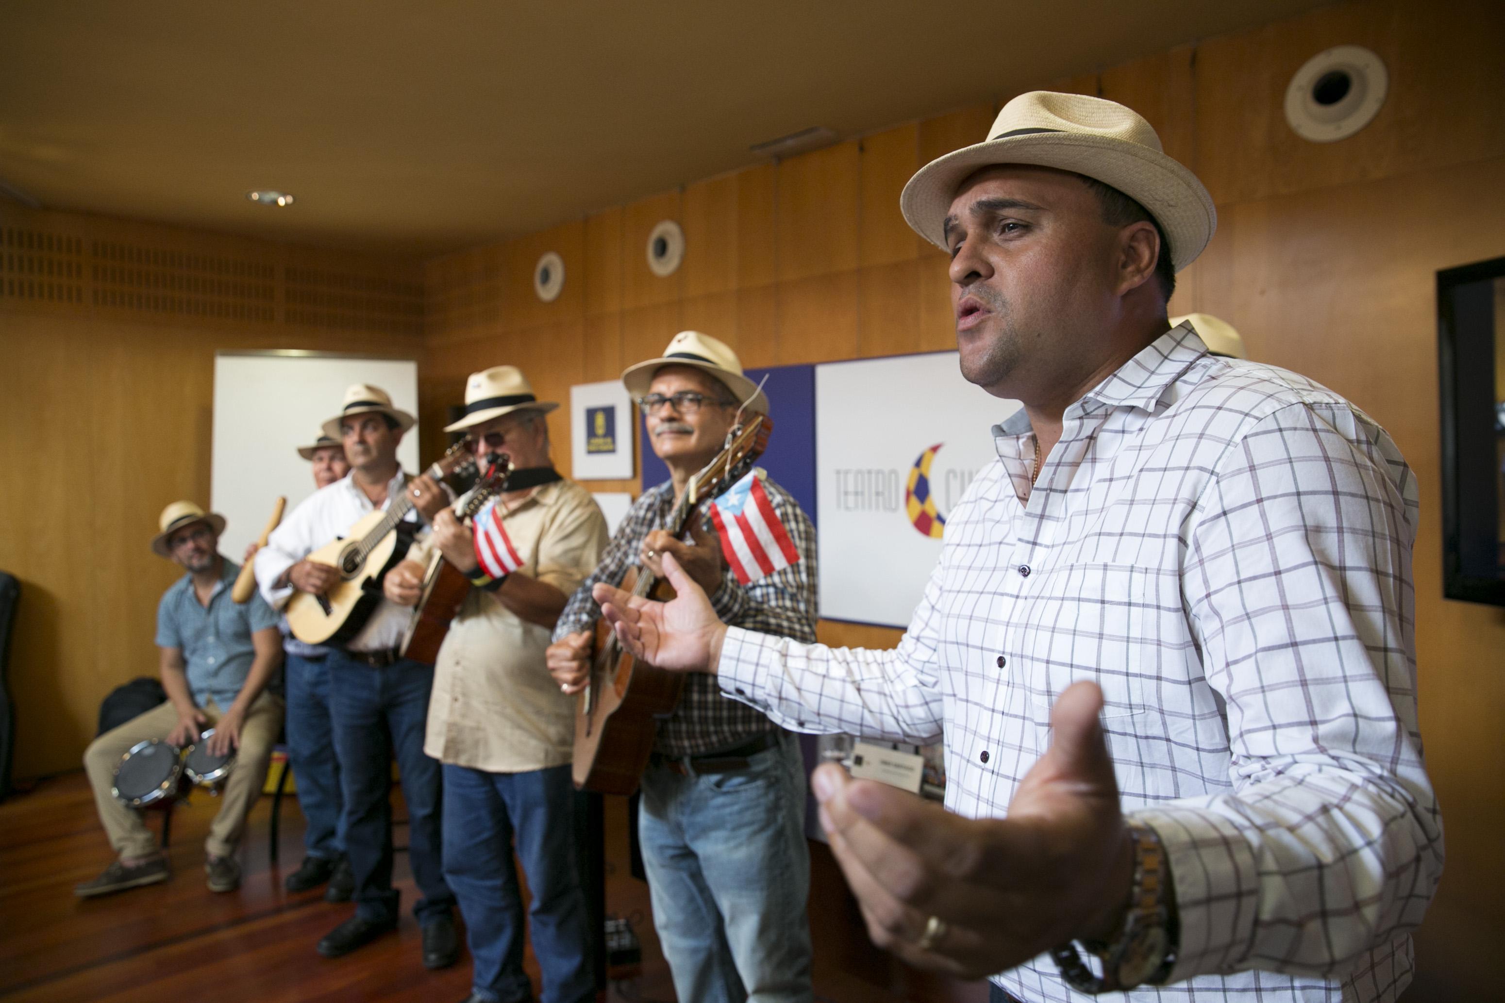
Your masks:
<path fill-rule="evenodd" d="M 895 651 L 733 629 L 722 687 L 789 726 L 944 729 L 947 806 L 1001 817 L 1050 704 L 1093 680 L 1180 910 L 1172 983 L 1127 998 L 1395 1000 L 1443 856 L 1416 725 L 1416 478 L 1395 444 L 1187 326 L 1066 409 L 1034 490 L 1028 417 L 993 436 Z M 1047 955 L 993 982 L 1088 998 Z"/>

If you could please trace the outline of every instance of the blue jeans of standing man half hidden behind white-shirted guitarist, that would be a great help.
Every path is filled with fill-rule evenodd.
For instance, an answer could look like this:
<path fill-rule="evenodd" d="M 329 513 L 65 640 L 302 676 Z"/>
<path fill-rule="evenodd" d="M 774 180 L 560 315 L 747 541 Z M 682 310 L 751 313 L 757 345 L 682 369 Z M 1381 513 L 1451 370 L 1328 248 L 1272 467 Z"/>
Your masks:
<path fill-rule="evenodd" d="M 330 668 L 325 659 L 287 653 L 287 758 L 298 779 L 298 808 L 310 857 L 331 860 L 345 853 L 345 797 L 340 759 L 330 725 Z"/>

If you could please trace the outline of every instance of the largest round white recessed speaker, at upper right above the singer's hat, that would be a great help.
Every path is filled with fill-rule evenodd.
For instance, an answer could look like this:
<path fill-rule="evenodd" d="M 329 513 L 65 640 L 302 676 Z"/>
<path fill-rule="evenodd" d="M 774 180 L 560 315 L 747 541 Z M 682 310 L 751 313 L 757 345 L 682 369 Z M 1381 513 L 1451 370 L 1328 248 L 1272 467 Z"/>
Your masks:
<path fill-rule="evenodd" d="M 1336 143 L 1367 126 L 1385 104 L 1391 78 L 1362 45 L 1317 53 L 1285 87 L 1285 120 L 1312 143 Z"/>

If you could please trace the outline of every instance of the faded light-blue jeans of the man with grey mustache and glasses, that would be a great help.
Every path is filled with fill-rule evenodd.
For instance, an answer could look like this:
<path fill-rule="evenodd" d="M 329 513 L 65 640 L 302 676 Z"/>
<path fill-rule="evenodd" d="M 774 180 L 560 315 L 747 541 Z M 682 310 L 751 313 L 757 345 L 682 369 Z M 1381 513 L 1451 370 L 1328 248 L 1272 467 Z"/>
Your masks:
<path fill-rule="evenodd" d="M 650 765 L 638 838 L 680 1000 L 813 1000 L 805 764 L 793 735 L 734 773 Z"/>

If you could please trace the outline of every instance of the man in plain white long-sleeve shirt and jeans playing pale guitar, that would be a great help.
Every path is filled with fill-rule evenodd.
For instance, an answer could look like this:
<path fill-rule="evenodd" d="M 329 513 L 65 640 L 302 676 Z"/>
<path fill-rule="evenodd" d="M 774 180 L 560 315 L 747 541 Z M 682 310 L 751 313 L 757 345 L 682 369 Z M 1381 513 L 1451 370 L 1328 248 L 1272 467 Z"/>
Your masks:
<path fill-rule="evenodd" d="M 340 573 L 304 559 L 343 535 L 376 508 L 390 508 L 408 492 L 417 513 L 432 519 L 448 495 L 427 477 L 411 481 L 397 465 L 397 444 L 414 418 L 393 408 L 379 386 L 357 383 L 340 414 L 325 423 L 339 436 L 351 472 L 303 501 L 272 531 L 256 555 L 262 594 L 281 609 L 293 591 L 324 594 Z M 417 520 L 409 511 L 408 522 Z M 402 659 L 397 645 L 408 611 L 381 601 L 370 620 L 325 659 L 330 716 L 345 795 L 345 851 L 355 877 L 355 916 L 319 941 L 319 953 L 339 958 L 397 928 L 397 890 L 391 887 L 391 758 L 396 753 L 408 808 L 408 857 L 423 898 L 414 907 L 423 928 L 423 964 L 441 968 L 459 958 L 455 895 L 439 862 L 439 764 L 423 753 L 433 668 Z"/>

